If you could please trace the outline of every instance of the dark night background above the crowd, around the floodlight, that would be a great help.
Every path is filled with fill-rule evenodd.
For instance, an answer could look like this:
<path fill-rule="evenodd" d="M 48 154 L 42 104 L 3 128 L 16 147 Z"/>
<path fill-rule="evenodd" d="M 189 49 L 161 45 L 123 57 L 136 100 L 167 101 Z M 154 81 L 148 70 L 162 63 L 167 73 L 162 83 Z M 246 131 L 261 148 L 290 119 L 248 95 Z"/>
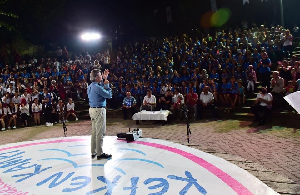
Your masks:
<path fill-rule="evenodd" d="M 247 19 L 268 26 L 280 24 L 279 0 L 216 0 L 217 8 L 228 8 L 231 17 L 222 28 L 241 25 Z M 68 45 L 78 47 L 82 32 L 96 31 L 103 35 L 102 41 L 113 39 L 120 44 L 130 39 L 162 37 L 189 33 L 197 35 L 207 26 L 201 24 L 203 14 L 211 11 L 210 0 L 191 1 L 71 1 L 71 0 L 8 0 L 0 5 L 1 10 L 12 12 L 19 18 L 4 18 L 15 26 L 11 31 L 0 28 L 1 41 L 9 42 L 16 36 L 32 44 Z M 172 24 L 167 24 L 166 7 L 171 7 Z M 283 0 L 284 22 L 292 28 L 299 21 L 299 0 Z M 154 10 L 158 12 L 153 15 Z M 1 16 L 3 17 L 3 16 Z M 2 19 L 2 18 L 1 18 Z M 194 30 L 192 30 L 194 28 Z M 210 30 L 214 28 L 211 27 Z M 117 31 L 117 35 L 116 35 Z M 116 40 L 117 39 L 117 40 Z"/>

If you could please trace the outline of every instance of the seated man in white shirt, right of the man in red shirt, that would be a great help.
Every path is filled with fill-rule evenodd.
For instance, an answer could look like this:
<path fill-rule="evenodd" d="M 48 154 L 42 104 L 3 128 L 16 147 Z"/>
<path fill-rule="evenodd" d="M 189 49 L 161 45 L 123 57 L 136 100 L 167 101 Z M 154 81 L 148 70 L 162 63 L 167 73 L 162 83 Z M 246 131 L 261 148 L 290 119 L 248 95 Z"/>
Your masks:
<path fill-rule="evenodd" d="M 203 109 L 210 109 L 212 111 L 213 119 L 216 121 L 219 120 L 217 116 L 218 115 L 217 108 L 213 104 L 214 102 L 213 94 L 208 91 L 207 86 L 203 88 L 199 100 L 200 100 L 200 104 L 198 104 L 198 120 L 201 120 L 203 118 Z"/>

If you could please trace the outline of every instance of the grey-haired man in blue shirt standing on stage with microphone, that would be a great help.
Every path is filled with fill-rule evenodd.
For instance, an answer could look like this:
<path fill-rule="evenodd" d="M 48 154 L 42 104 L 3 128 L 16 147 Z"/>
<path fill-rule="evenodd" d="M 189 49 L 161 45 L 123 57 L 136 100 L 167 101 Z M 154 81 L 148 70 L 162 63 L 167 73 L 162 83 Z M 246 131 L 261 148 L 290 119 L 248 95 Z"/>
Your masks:
<path fill-rule="evenodd" d="M 102 148 L 106 131 L 106 98 L 112 98 L 108 74 L 108 69 L 102 75 L 98 69 L 92 70 L 90 74 L 92 83 L 88 86 L 89 114 L 92 120 L 91 153 L 92 158 L 97 156 L 97 160 L 112 157 L 111 154 L 103 153 Z"/>

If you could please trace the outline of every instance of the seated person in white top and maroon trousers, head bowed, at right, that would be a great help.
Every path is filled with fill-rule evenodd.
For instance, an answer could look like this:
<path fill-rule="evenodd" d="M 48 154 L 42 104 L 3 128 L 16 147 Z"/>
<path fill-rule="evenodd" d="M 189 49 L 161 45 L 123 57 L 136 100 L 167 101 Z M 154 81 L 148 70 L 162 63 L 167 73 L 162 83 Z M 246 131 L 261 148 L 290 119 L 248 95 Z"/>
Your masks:
<path fill-rule="evenodd" d="M 251 107 L 251 111 L 255 116 L 253 122 L 259 122 L 258 125 L 265 124 L 266 118 L 271 116 L 273 97 L 271 93 L 267 93 L 264 87 L 259 88 L 259 93 L 256 96 L 255 105 Z M 260 116 L 262 114 L 262 117 Z"/>

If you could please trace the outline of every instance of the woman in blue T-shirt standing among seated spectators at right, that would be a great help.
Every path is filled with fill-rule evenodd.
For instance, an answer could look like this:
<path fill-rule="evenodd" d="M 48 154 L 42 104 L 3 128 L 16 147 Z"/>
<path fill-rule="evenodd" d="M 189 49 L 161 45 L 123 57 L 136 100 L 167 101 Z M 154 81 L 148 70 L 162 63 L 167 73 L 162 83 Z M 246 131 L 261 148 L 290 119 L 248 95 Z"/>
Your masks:
<path fill-rule="evenodd" d="M 259 77 L 261 78 L 262 87 L 270 88 L 271 81 L 271 60 L 268 57 L 267 52 L 261 53 L 262 59 L 259 60 L 257 68 L 259 70 Z"/>

